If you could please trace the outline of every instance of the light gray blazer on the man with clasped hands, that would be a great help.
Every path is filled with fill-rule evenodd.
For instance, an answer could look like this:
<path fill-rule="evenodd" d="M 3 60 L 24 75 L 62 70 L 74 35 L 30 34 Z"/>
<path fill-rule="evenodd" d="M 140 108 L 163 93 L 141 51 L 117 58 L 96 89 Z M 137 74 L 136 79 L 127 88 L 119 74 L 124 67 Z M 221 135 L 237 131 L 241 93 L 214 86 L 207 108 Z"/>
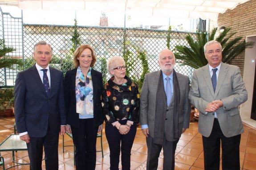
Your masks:
<path fill-rule="evenodd" d="M 209 137 L 213 127 L 214 113 L 205 112 L 208 103 L 221 99 L 223 107 L 217 111 L 222 133 L 226 137 L 244 132 L 238 106 L 247 100 L 247 91 L 237 66 L 221 63 L 215 93 L 211 83 L 208 64 L 193 72 L 189 101 L 200 111 L 199 133 Z"/>

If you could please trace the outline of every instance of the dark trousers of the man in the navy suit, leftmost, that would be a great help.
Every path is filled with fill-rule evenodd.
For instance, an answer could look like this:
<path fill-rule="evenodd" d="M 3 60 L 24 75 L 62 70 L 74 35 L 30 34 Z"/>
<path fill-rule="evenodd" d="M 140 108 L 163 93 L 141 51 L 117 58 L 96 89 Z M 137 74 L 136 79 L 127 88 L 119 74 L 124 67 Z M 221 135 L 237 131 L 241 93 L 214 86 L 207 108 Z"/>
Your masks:
<path fill-rule="evenodd" d="M 45 148 L 45 169 L 58 170 L 59 134 L 52 135 L 48 130 L 43 138 L 31 138 L 27 143 L 30 170 L 42 170 L 43 146 Z"/>

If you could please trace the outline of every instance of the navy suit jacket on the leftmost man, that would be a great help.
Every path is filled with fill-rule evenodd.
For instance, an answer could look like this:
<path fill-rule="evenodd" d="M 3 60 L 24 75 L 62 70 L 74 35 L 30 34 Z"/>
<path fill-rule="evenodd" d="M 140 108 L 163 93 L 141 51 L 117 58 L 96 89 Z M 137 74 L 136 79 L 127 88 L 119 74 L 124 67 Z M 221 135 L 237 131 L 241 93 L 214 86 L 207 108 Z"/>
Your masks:
<path fill-rule="evenodd" d="M 48 125 L 52 134 L 58 134 L 61 125 L 66 125 L 63 73 L 51 67 L 49 70 L 49 97 L 36 66 L 17 75 L 14 108 L 19 133 L 27 131 L 30 137 L 41 138 L 46 135 Z"/>

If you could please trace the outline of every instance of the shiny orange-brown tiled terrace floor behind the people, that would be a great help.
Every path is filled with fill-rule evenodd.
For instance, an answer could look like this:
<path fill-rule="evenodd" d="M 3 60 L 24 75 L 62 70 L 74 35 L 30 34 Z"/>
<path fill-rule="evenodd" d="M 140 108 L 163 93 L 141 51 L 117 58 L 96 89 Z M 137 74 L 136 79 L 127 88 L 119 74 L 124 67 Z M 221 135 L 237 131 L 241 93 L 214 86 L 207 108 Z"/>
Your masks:
<path fill-rule="evenodd" d="M 13 134 L 14 117 L 5 118 L 0 117 L 0 142 Z M 190 128 L 182 134 L 175 157 L 175 170 L 203 170 L 203 145 L 202 137 L 197 131 L 198 124 L 190 123 Z M 241 170 L 256 170 L 256 130 L 244 126 L 244 133 L 241 137 L 240 143 L 240 169 Z M 104 132 L 104 130 L 103 130 Z M 72 139 L 66 134 L 64 137 L 65 145 L 73 145 Z M 97 141 L 97 149 L 100 148 L 100 138 Z M 96 170 L 108 170 L 110 168 L 110 150 L 106 140 L 105 133 L 103 133 L 103 151 L 104 158 L 101 152 L 97 152 Z M 132 147 L 131 153 L 131 170 L 146 170 L 146 139 L 142 134 L 140 128 L 137 129 L 136 138 Z M 1 152 L 4 157 L 5 168 L 13 166 L 12 153 Z M 27 151 L 18 151 L 15 153 L 18 162 L 28 162 Z M 163 153 L 160 154 L 158 162 L 158 170 L 163 169 Z M 44 166 L 44 162 L 43 162 Z M 45 166 L 44 166 L 45 167 Z M 119 168 L 121 166 L 119 164 Z M 2 169 L 2 166 L 0 166 Z M 29 170 L 28 165 L 16 166 L 10 170 Z M 73 146 L 65 147 L 62 152 L 62 136 L 59 141 L 59 170 L 75 170 L 73 166 Z"/>

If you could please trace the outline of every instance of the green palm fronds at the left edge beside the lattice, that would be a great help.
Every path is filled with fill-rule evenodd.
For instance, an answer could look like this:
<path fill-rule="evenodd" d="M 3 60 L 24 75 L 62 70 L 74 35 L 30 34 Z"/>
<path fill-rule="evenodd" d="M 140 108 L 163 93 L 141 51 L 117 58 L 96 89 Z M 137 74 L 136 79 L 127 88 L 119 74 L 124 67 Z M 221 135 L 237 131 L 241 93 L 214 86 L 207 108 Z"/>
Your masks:
<path fill-rule="evenodd" d="M 22 60 L 20 59 L 9 59 L 5 55 L 9 52 L 15 51 L 16 49 L 12 47 L 6 47 L 4 40 L 0 39 L 0 68 L 10 68 L 13 69 L 13 65 L 22 65 Z"/>

